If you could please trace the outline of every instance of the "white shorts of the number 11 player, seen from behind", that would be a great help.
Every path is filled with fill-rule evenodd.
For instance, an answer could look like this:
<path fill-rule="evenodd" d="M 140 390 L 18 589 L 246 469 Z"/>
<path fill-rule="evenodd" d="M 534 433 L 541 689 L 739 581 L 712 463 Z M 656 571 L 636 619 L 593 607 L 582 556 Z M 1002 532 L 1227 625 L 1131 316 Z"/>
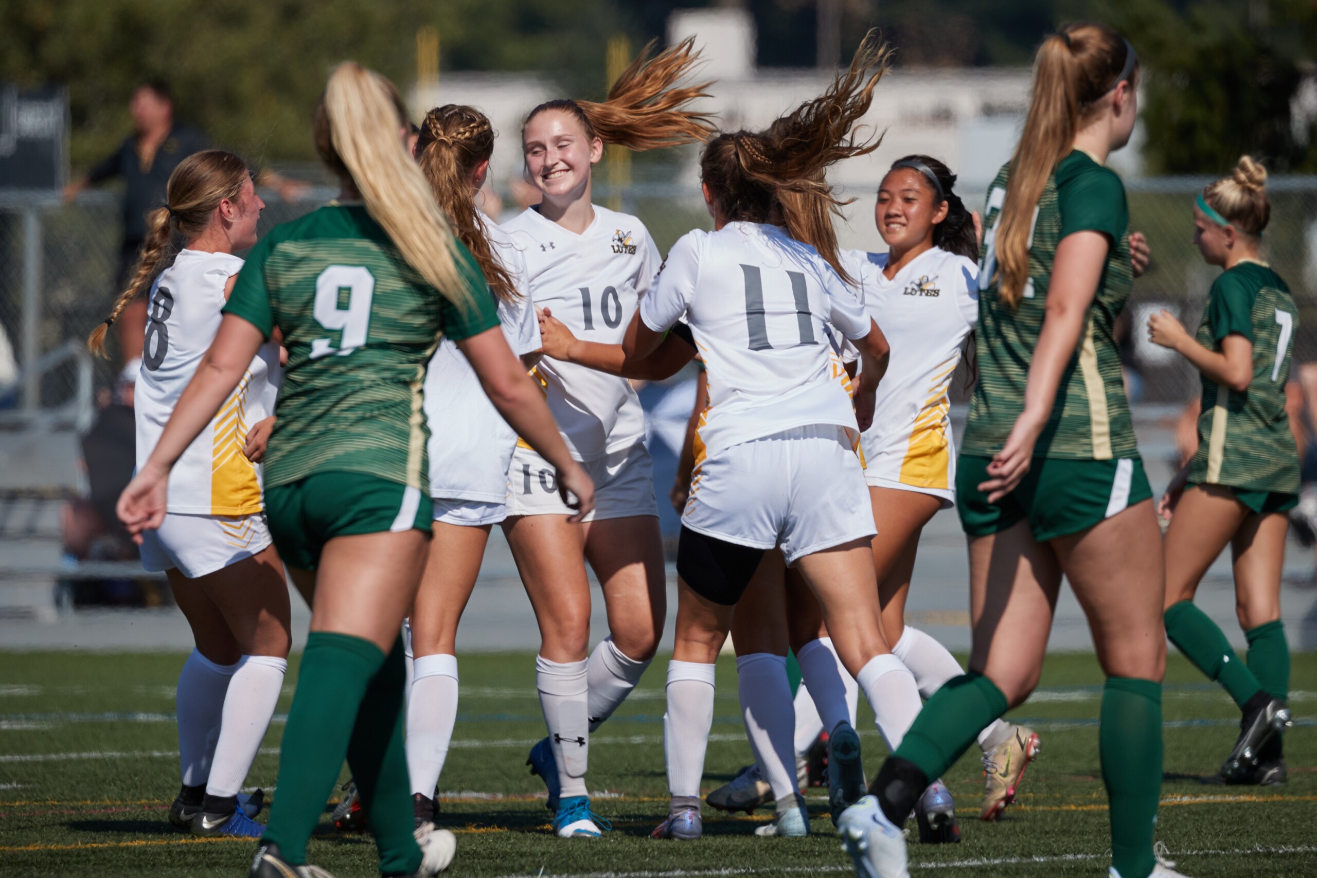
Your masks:
<path fill-rule="evenodd" d="M 691 479 L 682 525 L 786 563 L 877 533 L 860 458 L 842 426 L 799 426 L 710 454 Z"/>

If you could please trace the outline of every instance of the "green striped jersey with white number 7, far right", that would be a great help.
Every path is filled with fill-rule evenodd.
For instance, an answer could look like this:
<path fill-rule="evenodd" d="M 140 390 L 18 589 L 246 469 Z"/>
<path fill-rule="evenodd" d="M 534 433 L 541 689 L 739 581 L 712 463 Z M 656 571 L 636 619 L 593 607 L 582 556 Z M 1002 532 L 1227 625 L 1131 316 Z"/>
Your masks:
<path fill-rule="evenodd" d="M 1196 338 L 1210 350 L 1221 350 L 1231 333 L 1251 341 L 1252 380 L 1241 394 L 1202 376 L 1189 482 L 1299 494 L 1299 449 L 1285 413 L 1297 325 L 1289 287 L 1264 265 L 1239 262 L 1212 284 Z"/>

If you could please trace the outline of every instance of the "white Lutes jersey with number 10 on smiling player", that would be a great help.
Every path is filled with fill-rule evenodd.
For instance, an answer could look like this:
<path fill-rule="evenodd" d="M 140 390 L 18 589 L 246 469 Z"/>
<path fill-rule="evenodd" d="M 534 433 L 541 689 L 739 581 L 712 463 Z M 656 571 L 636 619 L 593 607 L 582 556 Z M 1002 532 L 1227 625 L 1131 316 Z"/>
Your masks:
<path fill-rule="evenodd" d="M 577 338 L 618 345 L 658 271 L 658 249 L 633 216 L 594 207 L 576 234 L 535 208 L 503 224 L 525 257 L 531 300 Z M 644 440 L 640 398 L 626 378 L 545 357 L 535 375 L 572 457 L 597 461 Z"/>

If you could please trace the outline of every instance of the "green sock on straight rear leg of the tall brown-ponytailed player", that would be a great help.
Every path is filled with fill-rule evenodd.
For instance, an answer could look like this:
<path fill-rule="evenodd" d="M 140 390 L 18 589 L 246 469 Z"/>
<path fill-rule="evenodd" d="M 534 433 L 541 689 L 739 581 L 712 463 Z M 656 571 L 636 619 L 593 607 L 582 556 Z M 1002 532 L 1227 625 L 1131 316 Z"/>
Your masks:
<path fill-rule="evenodd" d="M 1109 677 L 1102 688 L 1098 756 L 1112 816 L 1112 866 L 1121 878 L 1156 867 L 1152 835 L 1162 798 L 1162 684 Z"/>

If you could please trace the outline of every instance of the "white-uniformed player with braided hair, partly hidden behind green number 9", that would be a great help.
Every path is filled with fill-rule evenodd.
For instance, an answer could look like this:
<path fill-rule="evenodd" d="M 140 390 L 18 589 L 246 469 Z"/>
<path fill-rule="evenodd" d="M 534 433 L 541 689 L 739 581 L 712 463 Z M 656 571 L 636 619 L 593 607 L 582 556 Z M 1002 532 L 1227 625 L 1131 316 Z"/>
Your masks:
<path fill-rule="evenodd" d="M 525 254 L 474 200 L 493 153 L 494 128 L 474 107 L 436 107 L 421 122 L 416 161 L 498 299 L 508 346 L 532 367 L 539 361 L 540 330 L 527 294 Z M 457 719 L 457 624 L 475 586 L 490 527 L 507 517 L 507 470 L 516 446 L 516 433 L 448 338 L 425 375 L 425 416 L 435 534 L 411 613 L 414 674 L 407 699 L 407 767 L 416 825 L 435 817 L 435 786 Z"/>

